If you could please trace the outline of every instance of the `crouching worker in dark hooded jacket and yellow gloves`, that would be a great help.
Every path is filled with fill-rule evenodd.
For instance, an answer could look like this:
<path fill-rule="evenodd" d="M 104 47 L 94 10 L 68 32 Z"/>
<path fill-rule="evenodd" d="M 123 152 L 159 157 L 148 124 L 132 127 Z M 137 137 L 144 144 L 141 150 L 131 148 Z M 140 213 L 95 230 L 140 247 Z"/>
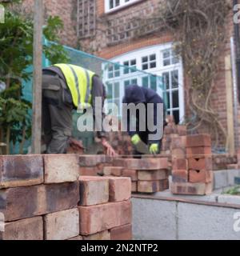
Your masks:
<path fill-rule="evenodd" d="M 154 122 L 154 126 L 157 124 L 157 106 L 158 103 L 162 103 L 162 98 L 154 91 L 151 89 L 146 89 L 144 87 L 140 87 L 137 85 L 132 85 L 132 86 L 126 86 L 125 90 L 125 96 L 122 100 L 122 103 L 130 104 L 134 103 L 135 106 L 137 106 L 139 103 L 143 103 L 145 108 L 147 109 L 147 104 L 152 103 L 154 107 L 154 113 L 152 113 L 152 122 Z M 140 111 L 135 112 L 136 115 L 133 117 L 130 115 L 130 112 L 128 111 L 127 113 L 127 130 L 128 134 L 130 134 L 131 137 L 131 142 L 134 145 L 134 154 L 135 155 L 141 155 L 141 154 L 159 154 L 162 146 L 162 138 L 150 140 L 150 134 L 155 134 L 155 131 L 150 131 L 147 126 L 147 122 L 150 121 L 150 118 L 147 119 L 147 116 L 144 120 L 141 119 L 140 117 Z M 136 122 L 136 130 L 131 131 L 130 130 L 130 122 L 131 120 L 135 118 Z M 166 121 L 165 121 L 165 114 L 163 110 L 162 114 L 162 128 L 166 126 Z M 140 124 L 140 120 L 143 122 Z M 143 126 L 142 126 L 143 125 Z M 140 126 L 144 127 L 140 129 Z M 159 127 L 160 128 L 160 127 Z M 138 145 L 141 144 L 140 142 L 143 142 L 142 144 L 145 145 L 146 150 L 140 151 L 138 150 Z M 139 147 L 141 148 L 141 147 Z"/>

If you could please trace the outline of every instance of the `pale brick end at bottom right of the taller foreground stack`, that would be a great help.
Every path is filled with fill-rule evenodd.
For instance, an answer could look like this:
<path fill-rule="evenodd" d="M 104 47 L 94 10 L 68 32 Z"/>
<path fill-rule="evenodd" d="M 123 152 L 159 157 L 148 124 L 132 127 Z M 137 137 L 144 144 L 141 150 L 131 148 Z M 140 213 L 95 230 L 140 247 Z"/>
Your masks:
<path fill-rule="evenodd" d="M 45 240 L 66 240 L 79 234 L 78 208 L 46 214 L 43 219 Z"/>

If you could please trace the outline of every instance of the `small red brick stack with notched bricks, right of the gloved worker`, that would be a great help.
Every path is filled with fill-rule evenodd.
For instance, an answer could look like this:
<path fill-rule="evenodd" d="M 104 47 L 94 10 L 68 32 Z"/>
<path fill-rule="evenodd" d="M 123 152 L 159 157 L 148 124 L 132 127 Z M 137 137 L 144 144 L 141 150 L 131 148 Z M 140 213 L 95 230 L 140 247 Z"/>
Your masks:
<path fill-rule="evenodd" d="M 213 190 L 211 139 L 209 134 L 174 138 L 172 144 L 173 194 L 210 194 Z"/>

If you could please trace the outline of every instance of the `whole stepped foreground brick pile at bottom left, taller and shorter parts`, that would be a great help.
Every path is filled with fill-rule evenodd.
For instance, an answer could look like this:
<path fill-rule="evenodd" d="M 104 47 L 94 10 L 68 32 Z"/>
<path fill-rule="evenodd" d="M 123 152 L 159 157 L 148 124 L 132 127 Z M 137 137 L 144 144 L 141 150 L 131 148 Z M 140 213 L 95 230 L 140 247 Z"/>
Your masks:
<path fill-rule="evenodd" d="M 119 228 L 130 234 L 130 188 L 123 199 L 118 190 L 130 179 L 107 179 L 106 201 L 93 206 L 102 194 L 84 185 L 89 178 L 78 180 L 78 161 L 75 154 L 0 157 L 0 240 L 106 239 L 118 237 Z"/>

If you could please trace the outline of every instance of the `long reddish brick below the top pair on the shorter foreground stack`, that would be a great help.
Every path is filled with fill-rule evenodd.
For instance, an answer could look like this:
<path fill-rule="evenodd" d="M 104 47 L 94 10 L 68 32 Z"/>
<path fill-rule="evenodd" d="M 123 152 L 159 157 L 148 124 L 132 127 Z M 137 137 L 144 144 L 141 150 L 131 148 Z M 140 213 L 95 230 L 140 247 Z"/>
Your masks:
<path fill-rule="evenodd" d="M 116 226 L 130 224 L 131 202 L 109 202 L 98 206 L 79 206 L 80 234 L 95 234 Z"/>

